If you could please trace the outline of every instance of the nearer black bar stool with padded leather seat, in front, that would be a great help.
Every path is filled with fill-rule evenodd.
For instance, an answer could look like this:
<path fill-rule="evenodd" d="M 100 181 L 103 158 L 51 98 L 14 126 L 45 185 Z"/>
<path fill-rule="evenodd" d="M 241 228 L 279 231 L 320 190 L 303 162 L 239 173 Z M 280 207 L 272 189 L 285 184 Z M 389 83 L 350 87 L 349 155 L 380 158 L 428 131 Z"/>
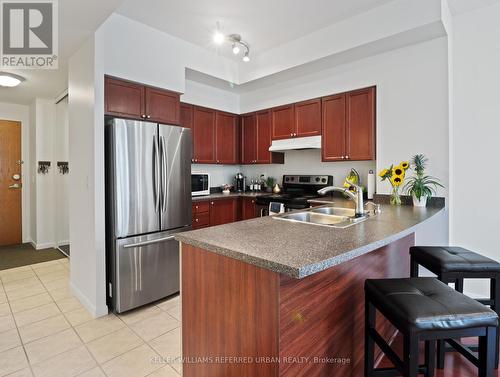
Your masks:
<path fill-rule="evenodd" d="M 403 360 L 375 329 L 376 310 L 403 335 Z M 479 377 L 493 377 L 498 315 L 435 278 L 365 281 L 365 377 L 434 376 L 435 342 L 477 336 L 479 355 L 456 348 L 478 368 Z M 418 345 L 425 341 L 425 364 L 418 364 Z M 374 368 L 375 343 L 394 368 Z M 398 373 L 399 372 L 399 373 Z"/>

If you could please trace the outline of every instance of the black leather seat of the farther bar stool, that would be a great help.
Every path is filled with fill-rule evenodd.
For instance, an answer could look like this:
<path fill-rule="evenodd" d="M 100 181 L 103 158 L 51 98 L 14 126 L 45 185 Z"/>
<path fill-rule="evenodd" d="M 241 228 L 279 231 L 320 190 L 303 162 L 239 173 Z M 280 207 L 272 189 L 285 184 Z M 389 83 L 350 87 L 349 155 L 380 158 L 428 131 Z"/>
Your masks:
<path fill-rule="evenodd" d="M 500 263 L 462 247 L 412 246 L 410 255 L 433 272 L 500 272 Z"/>

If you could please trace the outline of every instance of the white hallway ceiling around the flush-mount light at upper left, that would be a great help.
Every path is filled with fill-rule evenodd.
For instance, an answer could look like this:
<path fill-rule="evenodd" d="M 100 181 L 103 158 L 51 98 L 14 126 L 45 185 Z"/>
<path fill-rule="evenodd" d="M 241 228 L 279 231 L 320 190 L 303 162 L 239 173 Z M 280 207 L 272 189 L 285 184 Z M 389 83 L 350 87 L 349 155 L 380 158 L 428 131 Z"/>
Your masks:
<path fill-rule="evenodd" d="M 59 69 L 3 70 L 26 78 L 16 88 L 0 87 L 0 102 L 29 104 L 55 98 L 67 87 L 68 58 L 114 11 L 121 0 L 59 0 Z"/>

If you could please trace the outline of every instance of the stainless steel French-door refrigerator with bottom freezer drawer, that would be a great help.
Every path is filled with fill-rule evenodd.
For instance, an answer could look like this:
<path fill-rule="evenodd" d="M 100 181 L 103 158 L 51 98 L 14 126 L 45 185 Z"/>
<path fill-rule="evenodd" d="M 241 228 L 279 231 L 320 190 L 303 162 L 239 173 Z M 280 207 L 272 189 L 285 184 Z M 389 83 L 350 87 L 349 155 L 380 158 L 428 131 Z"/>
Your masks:
<path fill-rule="evenodd" d="M 191 130 L 106 118 L 108 305 L 121 313 L 179 291 L 191 229 Z"/>

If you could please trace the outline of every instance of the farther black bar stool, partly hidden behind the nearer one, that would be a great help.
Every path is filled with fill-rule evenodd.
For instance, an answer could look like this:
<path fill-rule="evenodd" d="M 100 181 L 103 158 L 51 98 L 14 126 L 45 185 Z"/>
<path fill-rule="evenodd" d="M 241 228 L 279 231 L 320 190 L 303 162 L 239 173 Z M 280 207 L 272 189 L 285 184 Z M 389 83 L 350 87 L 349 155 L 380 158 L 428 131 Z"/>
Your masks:
<path fill-rule="evenodd" d="M 410 276 L 418 276 L 418 266 L 435 273 L 443 283 L 455 283 L 455 289 L 463 293 L 464 279 L 490 279 L 490 297 L 478 299 L 489 305 L 500 315 L 500 263 L 461 247 L 413 246 L 410 247 Z M 499 340 L 497 332 L 495 368 L 499 361 Z M 477 347 L 467 347 L 470 351 Z M 444 367 L 444 342 L 438 342 L 438 369 Z"/>

